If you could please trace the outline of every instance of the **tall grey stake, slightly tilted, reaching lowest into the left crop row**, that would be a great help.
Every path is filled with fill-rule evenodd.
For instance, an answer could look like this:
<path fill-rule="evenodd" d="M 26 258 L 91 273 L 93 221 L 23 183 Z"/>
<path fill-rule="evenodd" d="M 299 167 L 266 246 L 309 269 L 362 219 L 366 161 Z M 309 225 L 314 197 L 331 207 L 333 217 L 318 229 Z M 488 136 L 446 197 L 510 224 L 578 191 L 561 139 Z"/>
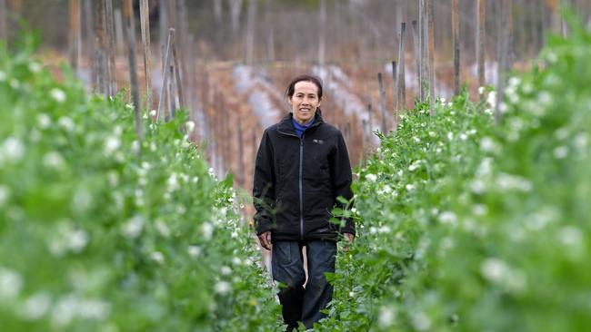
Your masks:
<path fill-rule="evenodd" d="M 124 17 L 125 17 L 125 32 L 127 39 L 127 57 L 129 59 L 129 75 L 131 81 L 131 94 L 134 101 L 135 113 L 135 133 L 137 139 L 144 141 L 144 133 L 142 131 L 142 115 L 140 113 L 139 104 L 139 86 L 137 83 L 137 60 L 135 59 L 135 23 L 134 23 L 134 7 L 131 4 L 132 0 L 125 0 L 124 2 Z"/>

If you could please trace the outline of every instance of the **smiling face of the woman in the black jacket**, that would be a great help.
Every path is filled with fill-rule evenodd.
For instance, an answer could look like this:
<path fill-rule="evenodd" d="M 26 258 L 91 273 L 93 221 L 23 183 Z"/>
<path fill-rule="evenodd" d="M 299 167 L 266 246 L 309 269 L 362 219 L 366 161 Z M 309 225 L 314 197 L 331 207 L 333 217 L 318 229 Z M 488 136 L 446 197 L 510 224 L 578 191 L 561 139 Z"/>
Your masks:
<path fill-rule="evenodd" d="M 314 119 L 316 109 L 320 106 L 318 87 L 309 81 L 295 83 L 294 95 L 289 99 L 294 119 L 300 124 L 306 124 Z"/>

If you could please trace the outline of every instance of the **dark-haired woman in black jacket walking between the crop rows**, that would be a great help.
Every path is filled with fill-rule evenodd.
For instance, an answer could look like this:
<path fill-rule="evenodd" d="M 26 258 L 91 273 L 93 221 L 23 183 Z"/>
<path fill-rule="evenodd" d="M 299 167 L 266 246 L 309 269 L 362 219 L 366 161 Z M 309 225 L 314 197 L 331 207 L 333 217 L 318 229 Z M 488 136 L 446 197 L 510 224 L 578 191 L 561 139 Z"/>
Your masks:
<path fill-rule="evenodd" d="M 336 198 L 351 200 L 351 165 L 343 135 L 324 122 L 322 83 L 301 75 L 287 86 L 291 112 L 265 130 L 256 153 L 256 234 L 272 250 L 273 278 L 287 330 L 306 328 L 325 317 L 320 312 L 332 298 L 326 272 L 335 272 L 339 234 L 355 239 L 353 220 L 329 222 Z M 340 203 L 338 203 L 340 204 Z M 308 279 L 302 248 L 306 247 Z"/>

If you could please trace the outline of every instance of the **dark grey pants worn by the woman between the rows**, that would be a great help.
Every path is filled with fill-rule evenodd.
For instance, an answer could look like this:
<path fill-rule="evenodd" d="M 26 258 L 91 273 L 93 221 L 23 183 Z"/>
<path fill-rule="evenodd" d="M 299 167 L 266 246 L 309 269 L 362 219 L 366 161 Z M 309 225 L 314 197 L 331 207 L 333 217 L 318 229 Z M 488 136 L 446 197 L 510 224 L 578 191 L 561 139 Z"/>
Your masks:
<path fill-rule="evenodd" d="M 302 247 L 306 246 L 308 281 Z M 335 272 L 336 242 L 329 240 L 274 241 L 271 258 L 273 278 L 279 286 L 279 302 L 287 331 L 301 321 L 310 328 L 325 317 L 320 310 L 333 295 L 333 287 L 326 281 L 325 272 Z"/>

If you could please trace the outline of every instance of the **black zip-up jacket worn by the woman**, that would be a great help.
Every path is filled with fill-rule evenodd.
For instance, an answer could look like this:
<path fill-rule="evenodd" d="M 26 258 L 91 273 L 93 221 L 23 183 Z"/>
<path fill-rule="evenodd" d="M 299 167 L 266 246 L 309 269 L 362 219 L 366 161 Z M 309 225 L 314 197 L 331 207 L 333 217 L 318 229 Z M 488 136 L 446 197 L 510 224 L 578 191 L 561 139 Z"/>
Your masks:
<path fill-rule="evenodd" d="M 353 220 L 340 228 L 329 222 L 337 197 L 353 197 L 345 140 L 335 127 L 316 121 L 300 139 L 293 113 L 265 130 L 256 153 L 256 233 L 271 230 L 273 240 L 336 239 L 355 234 Z"/>

